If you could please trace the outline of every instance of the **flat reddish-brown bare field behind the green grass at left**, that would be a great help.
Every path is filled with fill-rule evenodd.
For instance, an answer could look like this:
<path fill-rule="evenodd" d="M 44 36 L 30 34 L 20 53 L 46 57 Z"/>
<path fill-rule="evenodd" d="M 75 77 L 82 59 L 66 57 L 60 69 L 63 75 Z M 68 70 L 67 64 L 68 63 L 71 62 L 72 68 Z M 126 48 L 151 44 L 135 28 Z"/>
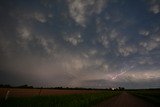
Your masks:
<path fill-rule="evenodd" d="M 85 94 L 96 93 L 95 90 L 58 90 L 58 89 L 18 89 L 0 88 L 0 98 L 4 98 L 7 91 L 8 97 L 32 97 L 37 95 L 66 95 L 66 94 Z"/>

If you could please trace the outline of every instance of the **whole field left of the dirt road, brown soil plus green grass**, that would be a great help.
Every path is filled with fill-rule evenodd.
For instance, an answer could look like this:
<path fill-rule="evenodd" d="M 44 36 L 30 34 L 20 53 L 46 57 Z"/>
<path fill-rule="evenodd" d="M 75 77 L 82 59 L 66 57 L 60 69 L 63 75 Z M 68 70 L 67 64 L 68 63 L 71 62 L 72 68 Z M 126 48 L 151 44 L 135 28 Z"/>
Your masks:
<path fill-rule="evenodd" d="M 10 90 L 7 100 L 5 96 Z M 89 107 L 118 95 L 116 91 L 0 89 L 1 107 Z"/>

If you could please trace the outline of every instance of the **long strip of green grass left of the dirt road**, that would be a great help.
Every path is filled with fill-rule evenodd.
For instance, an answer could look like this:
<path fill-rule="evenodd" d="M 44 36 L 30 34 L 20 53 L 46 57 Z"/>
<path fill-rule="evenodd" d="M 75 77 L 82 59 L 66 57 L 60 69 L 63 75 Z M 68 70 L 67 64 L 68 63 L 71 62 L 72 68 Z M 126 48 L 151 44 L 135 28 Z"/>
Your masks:
<path fill-rule="evenodd" d="M 9 98 L 1 101 L 1 107 L 89 107 L 120 92 L 105 91 L 90 94 L 35 96 L 28 98 Z"/>

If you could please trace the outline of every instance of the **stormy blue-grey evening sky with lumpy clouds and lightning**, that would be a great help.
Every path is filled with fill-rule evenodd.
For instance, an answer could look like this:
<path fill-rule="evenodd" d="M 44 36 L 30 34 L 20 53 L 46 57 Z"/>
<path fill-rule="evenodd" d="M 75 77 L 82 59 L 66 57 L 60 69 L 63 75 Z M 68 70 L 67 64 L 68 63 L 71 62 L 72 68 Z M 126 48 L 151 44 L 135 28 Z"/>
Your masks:
<path fill-rule="evenodd" d="M 1 0 L 0 84 L 160 88 L 160 0 Z"/>

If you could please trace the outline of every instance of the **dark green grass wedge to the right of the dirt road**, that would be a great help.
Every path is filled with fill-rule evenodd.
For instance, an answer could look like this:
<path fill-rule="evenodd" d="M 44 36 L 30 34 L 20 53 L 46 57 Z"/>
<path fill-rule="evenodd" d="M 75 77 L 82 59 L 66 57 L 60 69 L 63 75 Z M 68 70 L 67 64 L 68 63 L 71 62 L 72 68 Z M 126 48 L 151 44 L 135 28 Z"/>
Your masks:
<path fill-rule="evenodd" d="M 136 90 L 129 93 L 140 97 L 148 102 L 160 105 L 160 90 Z"/>

